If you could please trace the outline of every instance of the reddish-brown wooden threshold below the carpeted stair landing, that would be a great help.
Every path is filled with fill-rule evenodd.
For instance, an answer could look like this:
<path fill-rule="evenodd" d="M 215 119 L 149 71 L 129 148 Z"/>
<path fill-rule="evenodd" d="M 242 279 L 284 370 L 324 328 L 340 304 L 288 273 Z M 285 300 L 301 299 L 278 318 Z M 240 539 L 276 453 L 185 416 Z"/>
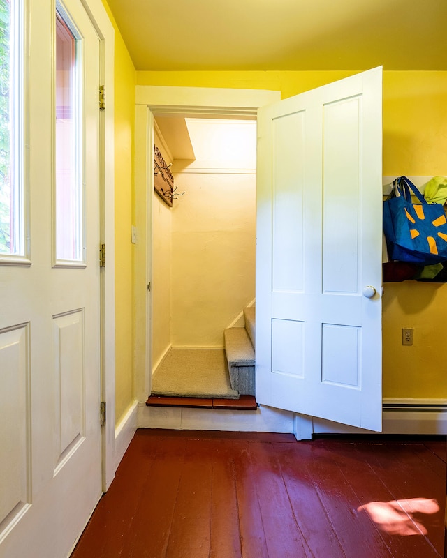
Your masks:
<path fill-rule="evenodd" d="M 147 407 L 192 407 L 196 409 L 231 409 L 232 411 L 256 411 L 258 408 L 253 395 L 241 395 L 239 399 L 150 395 L 146 405 Z"/>

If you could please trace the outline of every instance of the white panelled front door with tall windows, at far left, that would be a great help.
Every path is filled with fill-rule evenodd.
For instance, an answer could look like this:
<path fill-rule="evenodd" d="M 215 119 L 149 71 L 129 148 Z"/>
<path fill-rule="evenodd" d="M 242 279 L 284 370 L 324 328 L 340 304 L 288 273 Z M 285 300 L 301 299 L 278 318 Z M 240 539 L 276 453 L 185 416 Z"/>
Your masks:
<path fill-rule="evenodd" d="M 101 497 L 101 52 L 80 1 L 25 6 L 11 232 L 30 225 L 22 254 L 0 255 L 0 557 L 61 558 Z"/>

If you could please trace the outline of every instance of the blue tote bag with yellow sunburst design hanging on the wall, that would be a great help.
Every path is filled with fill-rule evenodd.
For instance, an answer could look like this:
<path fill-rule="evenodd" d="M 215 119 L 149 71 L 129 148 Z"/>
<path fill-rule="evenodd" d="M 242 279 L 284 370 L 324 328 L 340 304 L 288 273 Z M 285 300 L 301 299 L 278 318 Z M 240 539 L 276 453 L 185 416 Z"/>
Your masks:
<path fill-rule="evenodd" d="M 420 203 L 413 203 L 411 193 Z M 447 261 L 447 220 L 441 204 L 429 204 L 400 176 L 383 202 L 383 233 L 390 260 L 420 266 Z"/>

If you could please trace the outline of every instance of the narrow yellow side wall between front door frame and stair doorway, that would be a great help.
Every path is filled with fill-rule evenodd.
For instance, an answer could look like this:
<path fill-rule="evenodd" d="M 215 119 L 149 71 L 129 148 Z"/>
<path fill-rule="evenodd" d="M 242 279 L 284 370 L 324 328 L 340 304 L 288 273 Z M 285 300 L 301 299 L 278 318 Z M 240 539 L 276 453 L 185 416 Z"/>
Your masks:
<path fill-rule="evenodd" d="M 133 135 L 136 73 L 115 27 L 115 354 L 116 423 L 134 400 L 133 390 Z M 107 102 L 107 93 L 106 93 Z"/>

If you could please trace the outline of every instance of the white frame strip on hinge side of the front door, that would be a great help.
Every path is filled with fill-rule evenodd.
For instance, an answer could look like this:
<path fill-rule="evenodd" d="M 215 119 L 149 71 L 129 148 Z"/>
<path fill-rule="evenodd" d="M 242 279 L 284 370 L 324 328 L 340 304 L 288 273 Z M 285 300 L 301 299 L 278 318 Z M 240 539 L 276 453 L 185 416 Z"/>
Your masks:
<path fill-rule="evenodd" d="M 100 239 L 106 246 L 106 266 L 101 268 L 101 401 L 107 420 L 101 428 L 103 491 L 115 477 L 115 30 L 101 0 L 81 0 L 101 41 L 101 83 L 106 105 L 101 112 L 101 216 Z M 99 93 L 98 93 L 99 95 Z M 99 246 L 98 246 L 99 251 Z M 98 259 L 99 261 L 99 259 Z M 99 420 L 99 409 L 98 409 Z"/>

